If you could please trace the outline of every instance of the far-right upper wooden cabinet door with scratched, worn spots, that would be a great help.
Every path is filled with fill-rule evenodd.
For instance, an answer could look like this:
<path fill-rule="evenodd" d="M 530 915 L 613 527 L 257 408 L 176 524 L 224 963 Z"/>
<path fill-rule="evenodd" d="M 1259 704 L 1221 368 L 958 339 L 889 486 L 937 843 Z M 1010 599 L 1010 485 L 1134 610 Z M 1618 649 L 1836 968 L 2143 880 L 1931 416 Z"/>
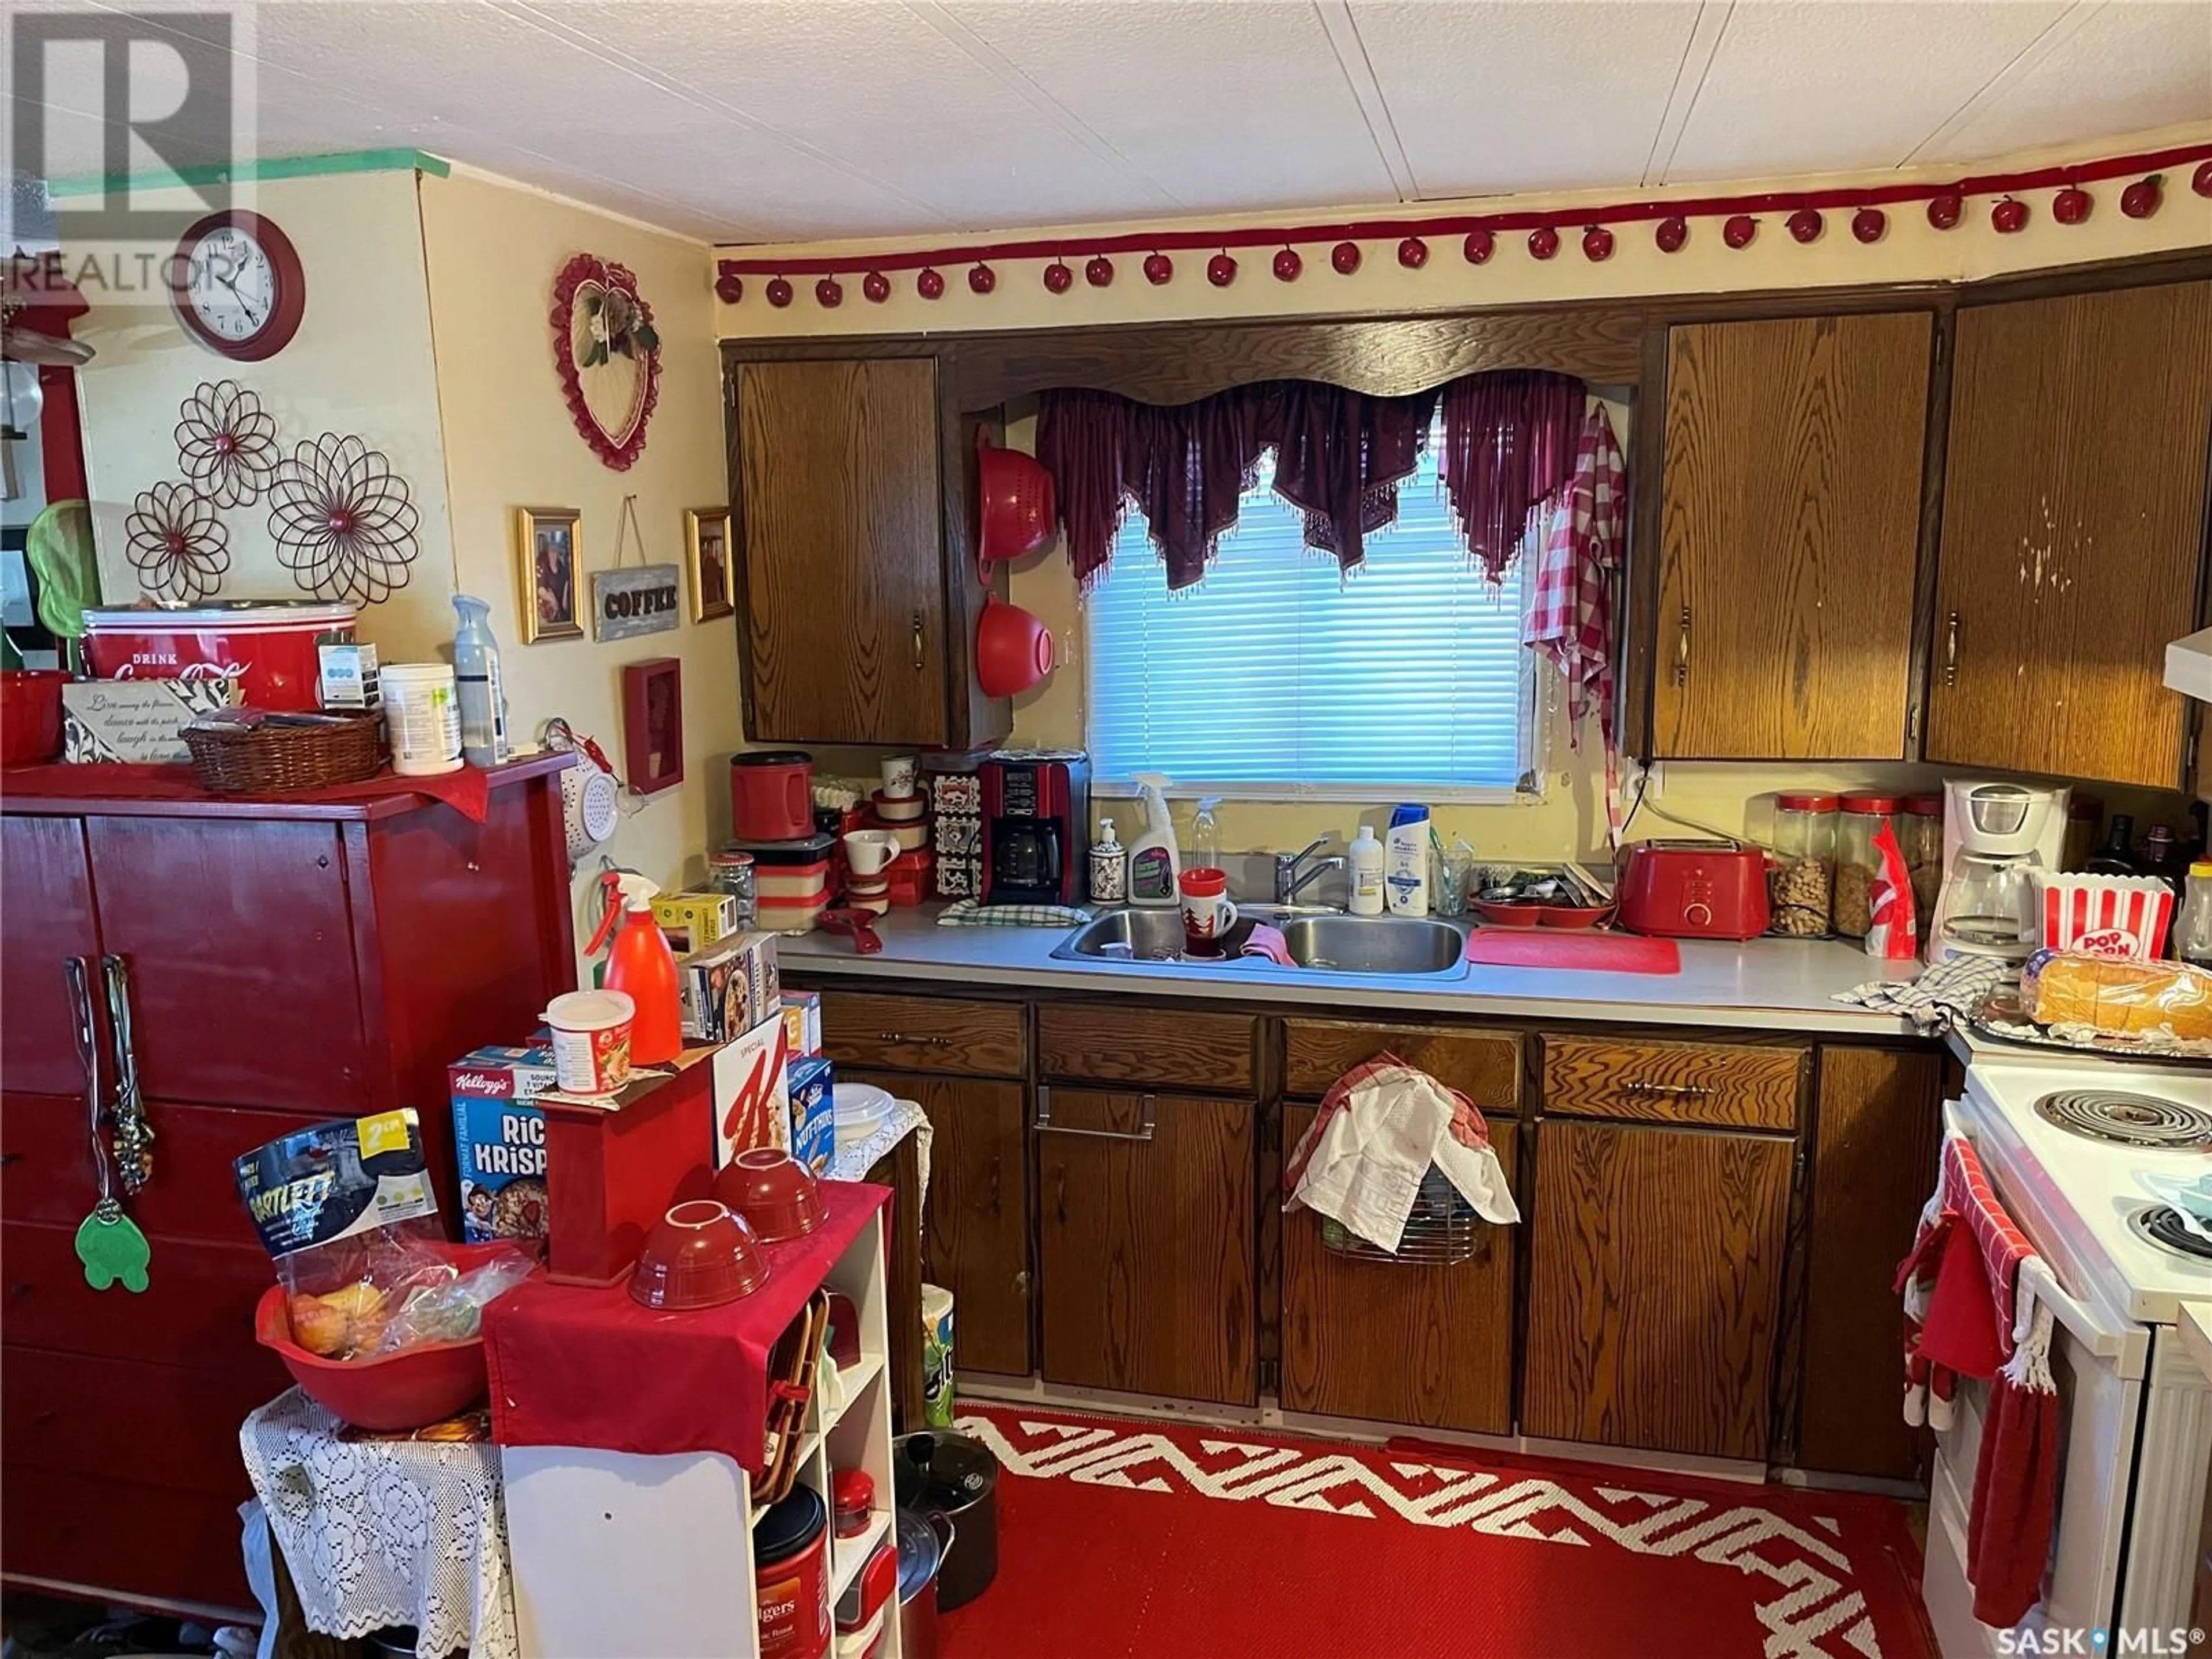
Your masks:
<path fill-rule="evenodd" d="M 1927 759 L 2174 787 L 2212 283 L 1958 314 Z"/>

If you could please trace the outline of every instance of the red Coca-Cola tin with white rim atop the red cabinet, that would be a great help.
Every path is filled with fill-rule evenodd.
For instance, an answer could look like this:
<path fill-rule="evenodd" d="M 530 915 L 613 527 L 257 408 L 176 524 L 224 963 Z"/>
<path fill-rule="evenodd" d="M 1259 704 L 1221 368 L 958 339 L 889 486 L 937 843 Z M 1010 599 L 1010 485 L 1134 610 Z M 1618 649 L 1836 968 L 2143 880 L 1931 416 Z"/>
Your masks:
<path fill-rule="evenodd" d="M 234 677 L 252 708 L 314 708 L 314 648 L 352 644 L 354 622 L 354 606 L 321 599 L 108 606 L 84 613 L 84 653 L 97 679 Z"/>

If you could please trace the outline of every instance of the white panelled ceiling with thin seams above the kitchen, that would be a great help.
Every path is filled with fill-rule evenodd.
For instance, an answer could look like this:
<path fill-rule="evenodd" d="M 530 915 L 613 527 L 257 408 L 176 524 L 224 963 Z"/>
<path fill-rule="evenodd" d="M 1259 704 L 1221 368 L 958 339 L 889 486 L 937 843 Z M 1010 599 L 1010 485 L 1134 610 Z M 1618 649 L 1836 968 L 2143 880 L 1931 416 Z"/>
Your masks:
<path fill-rule="evenodd" d="M 263 155 L 411 146 L 714 241 L 1944 166 L 2212 119 L 2205 0 L 265 0 L 254 31 Z M 49 131 L 53 173 L 97 170 L 88 122 Z"/>

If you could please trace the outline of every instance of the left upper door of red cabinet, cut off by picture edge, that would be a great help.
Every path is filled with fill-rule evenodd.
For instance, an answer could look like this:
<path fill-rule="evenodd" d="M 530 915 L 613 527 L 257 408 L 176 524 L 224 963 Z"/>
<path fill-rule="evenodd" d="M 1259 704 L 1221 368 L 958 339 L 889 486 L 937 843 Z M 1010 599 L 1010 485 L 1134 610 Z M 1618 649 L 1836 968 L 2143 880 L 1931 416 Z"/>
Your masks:
<path fill-rule="evenodd" d="M 77 1018 L 62 960 L 91 958 L 100 995 L 100 927 L 82 818 L 0 818 L 0 1086 L 84 1099 Z"/>

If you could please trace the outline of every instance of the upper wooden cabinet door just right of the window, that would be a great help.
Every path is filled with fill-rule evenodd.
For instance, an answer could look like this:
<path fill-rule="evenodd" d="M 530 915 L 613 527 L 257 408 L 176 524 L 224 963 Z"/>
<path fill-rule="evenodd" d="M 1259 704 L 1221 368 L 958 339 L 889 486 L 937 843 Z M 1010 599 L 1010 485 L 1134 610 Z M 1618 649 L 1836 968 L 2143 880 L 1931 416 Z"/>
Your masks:
<path fill-rule="evenodd" d="M 1668 332 L 1657 757 L 1905 757 L 1931 327 Z"/>

